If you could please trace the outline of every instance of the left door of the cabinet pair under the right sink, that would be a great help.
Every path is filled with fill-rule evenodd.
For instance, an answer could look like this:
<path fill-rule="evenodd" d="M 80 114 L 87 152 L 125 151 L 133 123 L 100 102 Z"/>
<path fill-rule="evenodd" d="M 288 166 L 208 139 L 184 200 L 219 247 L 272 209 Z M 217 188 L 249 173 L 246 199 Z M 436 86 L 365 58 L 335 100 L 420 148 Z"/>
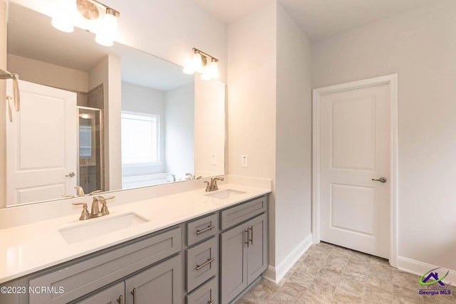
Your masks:
<path fill-rule="evenodd" d="M 222 303 L 229 303 L 247 287 L 247 226 L 243 224 L 229 229 L 220 234 L 220 238 Z"/>

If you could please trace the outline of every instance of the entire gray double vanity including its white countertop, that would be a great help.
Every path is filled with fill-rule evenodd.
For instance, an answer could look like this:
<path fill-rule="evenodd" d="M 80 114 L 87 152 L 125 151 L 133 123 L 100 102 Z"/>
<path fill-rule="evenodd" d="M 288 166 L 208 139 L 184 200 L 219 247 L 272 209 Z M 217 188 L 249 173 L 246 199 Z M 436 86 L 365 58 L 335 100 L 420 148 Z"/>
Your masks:
<path fill-rule="evenodd" d="M 230 303 L 268 266 L 269 192 L 116 198 L 106 216 L 2 229 L 0 303 Z"/>

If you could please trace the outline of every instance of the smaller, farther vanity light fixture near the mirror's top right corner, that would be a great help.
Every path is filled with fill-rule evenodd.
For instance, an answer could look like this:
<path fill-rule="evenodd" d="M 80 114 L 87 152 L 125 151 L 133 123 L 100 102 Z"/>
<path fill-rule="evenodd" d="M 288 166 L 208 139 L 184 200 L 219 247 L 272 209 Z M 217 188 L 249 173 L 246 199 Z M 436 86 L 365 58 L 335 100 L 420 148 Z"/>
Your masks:
<path fill-rule="evenodd" d="M 201 73 L 202 80 L 210 80 L 219 77 L 219 60 L 197 48 L 192 48 L 193 60 L 184 67 L 185 74 Z"/>

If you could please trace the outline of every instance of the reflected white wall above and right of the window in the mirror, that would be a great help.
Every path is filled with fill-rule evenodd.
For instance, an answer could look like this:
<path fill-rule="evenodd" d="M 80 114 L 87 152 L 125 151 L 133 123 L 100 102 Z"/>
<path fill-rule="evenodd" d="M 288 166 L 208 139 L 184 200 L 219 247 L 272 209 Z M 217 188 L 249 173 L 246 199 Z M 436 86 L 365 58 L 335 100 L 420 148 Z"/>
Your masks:
<path fill-rule="evenodd" d="M 160 162 L 165 161 L 165 92 L 133 83 L 122 83 L 122 110 L 160 115 Z M 160 166 L 157 172 L 163 172 Z"/>

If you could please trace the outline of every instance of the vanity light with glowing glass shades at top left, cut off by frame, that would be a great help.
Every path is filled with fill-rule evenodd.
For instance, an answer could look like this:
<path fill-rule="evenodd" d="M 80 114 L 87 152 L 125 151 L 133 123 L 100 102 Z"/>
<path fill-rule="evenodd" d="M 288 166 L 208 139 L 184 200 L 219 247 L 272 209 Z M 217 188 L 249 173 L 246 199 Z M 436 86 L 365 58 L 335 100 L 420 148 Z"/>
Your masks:
<path fill-rule="evenodd" d="M 75 6 L 76 4 L 76 6 Z M 98 7 L 104 10 L 100 14 Z M 75 23 L 75 11 L 78 11 L 86 21 L 103 18 L 98 28 L 94 28 L 95 41 L 102 46 L 112 46 L 118 34 L 117 17 L 120 13 L 97 0 L 58 0 L 56 12 L 52 18 L 53 27 L 60 31 L 71 33 Z"/>

